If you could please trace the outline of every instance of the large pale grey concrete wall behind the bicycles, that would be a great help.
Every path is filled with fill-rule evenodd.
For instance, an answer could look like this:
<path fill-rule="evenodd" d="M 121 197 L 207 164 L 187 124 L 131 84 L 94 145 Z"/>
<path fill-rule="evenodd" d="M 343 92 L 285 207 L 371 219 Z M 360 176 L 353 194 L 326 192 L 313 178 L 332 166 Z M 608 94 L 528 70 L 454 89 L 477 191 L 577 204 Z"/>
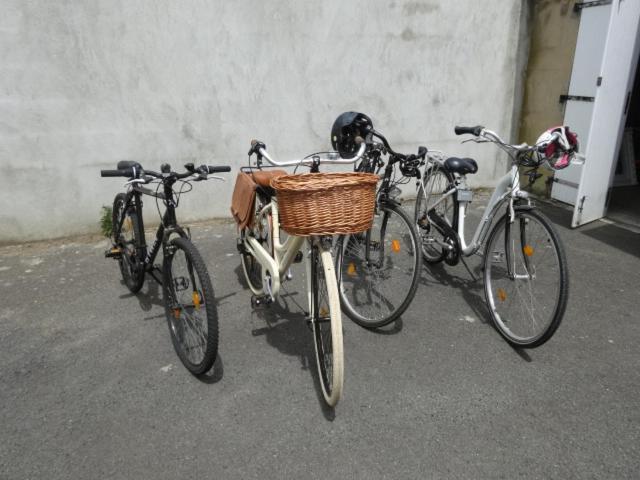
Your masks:
<path fill-rule="evenodd" d="M 477 156 L 476 185 L 504 159 L 459 145 L 453 126 L 516 133 L 521 0 L 2 0 L 0 10 L 1 242 L 97 231 L 123 183 L 99 170 L 118 160 L 235 170 L 251 138 L 283 158 L 329 147 L 345 110 L 369 114 L 400 151 Z M 228 216 L 234 177 L 196 184 L 179 218 Z M 151 199 L 145 210 L 151 219 Z"/>

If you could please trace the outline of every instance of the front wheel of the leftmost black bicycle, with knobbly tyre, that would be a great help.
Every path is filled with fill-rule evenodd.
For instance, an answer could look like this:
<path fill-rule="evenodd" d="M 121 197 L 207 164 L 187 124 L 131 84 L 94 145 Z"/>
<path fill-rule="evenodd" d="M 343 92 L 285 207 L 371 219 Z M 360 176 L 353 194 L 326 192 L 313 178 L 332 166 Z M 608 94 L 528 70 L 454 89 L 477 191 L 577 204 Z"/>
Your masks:
<path fill-rule="evenodd" d="M 200 253 L 186 238 L 166 246 L 164 302 L 173 347 L 194 375 L 208 371 L 218 353 L 218 312 Z"/>

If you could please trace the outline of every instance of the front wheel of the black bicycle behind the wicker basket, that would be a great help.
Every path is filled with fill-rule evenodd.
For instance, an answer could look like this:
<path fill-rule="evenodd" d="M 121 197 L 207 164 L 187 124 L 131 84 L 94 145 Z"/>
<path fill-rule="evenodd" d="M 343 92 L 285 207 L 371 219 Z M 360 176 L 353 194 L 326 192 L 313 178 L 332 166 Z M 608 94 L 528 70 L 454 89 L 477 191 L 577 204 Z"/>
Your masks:
<path fill-rule="evenodd" d="M 338 239 L 340 302 L 358 325 L 396 320 L 418 288 L 420 256 L 413 222 L 399 206 L 378 209 L 370 230 Z"/>

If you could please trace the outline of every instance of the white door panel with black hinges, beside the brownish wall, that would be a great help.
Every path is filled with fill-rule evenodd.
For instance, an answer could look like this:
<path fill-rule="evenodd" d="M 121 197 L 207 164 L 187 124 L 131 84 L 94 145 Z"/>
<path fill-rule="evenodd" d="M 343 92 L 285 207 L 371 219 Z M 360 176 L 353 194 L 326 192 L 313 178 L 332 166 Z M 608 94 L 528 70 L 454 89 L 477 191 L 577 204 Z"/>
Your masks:
<path fill-rule="evenodd" d="M 593 100 L 598 89 L 598 77 L 611 18 L 611 4 L 594 5 L 580 10 L 580 27 L 573 57 L 569 98 L 566 100 L 564 111 L 564 125 L 569 125 L 571 130 L 578 134 L 583 152 L 589 139 Z M 581 174 L 582 167 L 578 165 L 571 165 L 556 172 L 551 197 L 575 205 Z"/>

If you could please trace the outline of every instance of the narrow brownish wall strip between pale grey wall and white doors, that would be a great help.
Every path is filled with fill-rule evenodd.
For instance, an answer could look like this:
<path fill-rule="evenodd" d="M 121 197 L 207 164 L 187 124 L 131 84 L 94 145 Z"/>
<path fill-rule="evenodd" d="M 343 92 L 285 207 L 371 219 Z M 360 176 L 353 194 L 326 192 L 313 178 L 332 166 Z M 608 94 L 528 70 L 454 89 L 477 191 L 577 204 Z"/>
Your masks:
<path fill-rule="evenodd" d="M 558 99 L 569 91 L 573 55 L 578 39 L 580 14 L 574 12 L 574 0 L 538 0 L 530 23 L 529 62 L 526 71 L 519 141 L 532 143 L 547 128 L 562 125 L 564 103 Z M 534 185 L 534 191 L 547 194 L 546 179 Z"/>

